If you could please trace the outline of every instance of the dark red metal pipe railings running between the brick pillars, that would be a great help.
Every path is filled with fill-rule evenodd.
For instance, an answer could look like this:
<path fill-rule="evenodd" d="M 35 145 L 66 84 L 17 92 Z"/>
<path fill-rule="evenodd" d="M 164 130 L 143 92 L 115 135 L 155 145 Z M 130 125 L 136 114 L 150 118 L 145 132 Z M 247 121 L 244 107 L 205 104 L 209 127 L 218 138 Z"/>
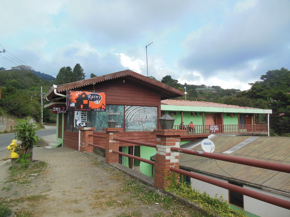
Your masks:
<path fill-rule="evenodd" d="M 93 134 L 89 134 L 89 136 L 105 138 L 105 136 L 99 136 L 99 135 L 93 135 Z M 113 139 L 117 140 L 117 141 L 131 143 L 131 144 L 156 147 L 156 144 L 153 144 L 153 143 L 140 142 L 140 141 L 135 141 L 135 140 L 130 140 L 130 139 L 120 139 L 120 138 L 116 138 L 116 137 L 113 137 Z M 105 149 L 102 146 L 97 146 L 94 144 L 89 144 L 89 145 L 93 146 L 93 147 Z M 285 165 L 285 164 L 271 163 L 271 162 L 267 162 L 267 161 L 258 161 L 258 160 L 252 160 L 252 159 L 241 158 L 241 157 L 233 157 L 233 156 L 227 156 L 227 155 L 221 155 L 221 154 L 213 154 L 213 153 L 208 153 L 208 152 L 189 150 L 189 149 L 177 148 L 177 147 L 171 147 L 171 151 L 182 152 L 182 153 L 197 155 L 197 156 L 201 156 L 201 157 L 208 157 L 208 158 L 212 158 L 212 159 L 218 159 L 218 160 L 223 160 L 223 161 L 228 161 L 228 162 L 233 162 L 233 163 L 239 163 L 239 164 L 243 164 L 243 165 L 250 165 L 250 166 L 254 166 L 254 167 L 290 173 L 290 165 Z M 155 165 L 154 161 L 150 161 L 148 159 L 144 159 L 144 158 L 137 157 L 134 155 L 129 155 L 129 154 L 119 152 L 116 150 L 113 150 L 113 152 L 116 154 L 119 154 L 119 155 L 123 155 L 126 157 L 130 157 L 130 158 L 145 162 L 145 163 L 149 163 L 151 165 Z M 283 200 L 280 198 L 269 196 L 267 194 L 262 194 L 262 193 L 259 193 L 259 192 L 253 191 L 253 190 L 245 189 L 243 187 L 239 187 L 236 185 L 232 185 L 229 183 L 218 181 L 216 179 L 212 179 L 212 178 L 209 178 L 209 177 L 206 177 L 203 175 L 194 174 L 192 172 L 177 169 L 175 167 L 171 167 L 170 170 L 173 172 L 177 172 L 179 174 L 189 176 L 189 177 L 194 178 L 194 179 L 198 179 L 200 181 L 204 181 L 206 183 L 210 183 L 210 184 L 213 184 L 213 185 L 216 185 L 216 186 L 219 186 L 219 187 L 222 187 L 222 188 L 225 188 L 225 189 L 228 189 L 228 190 L 231 190 L 231 191 L 255 198 L 255 199 L 260 200 L 260 201 L 264 201 L 266 203 L 270 203 L 270 204 L 273 204 L 273 205 L 276 205 L 279 207 L 290 209 L 290 201 L 286 201 L 286 200 Z"/>

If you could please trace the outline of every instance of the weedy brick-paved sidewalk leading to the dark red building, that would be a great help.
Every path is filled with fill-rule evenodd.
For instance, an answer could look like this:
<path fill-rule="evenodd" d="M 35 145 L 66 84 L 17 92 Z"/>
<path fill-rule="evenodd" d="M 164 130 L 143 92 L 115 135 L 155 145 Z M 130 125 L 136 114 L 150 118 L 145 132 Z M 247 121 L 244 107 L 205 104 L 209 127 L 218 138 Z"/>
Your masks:
<path fill-rule="evenodd" d="M 95 164 L 93 156 L 72 149 L 34 148 L 33 159 L 46 161 L 47 169 L 32 179 L 30 183 L 4 183 L 8 178 L 6 163 L 0 166 L 0 195 L 10 199 L 25 195 L 46 195 L 47 200 L 39 204 L 18 203 L 10 207 L 13 211 L 24 207 L 34 212 L 35 216 L 117 216 L 122 212 L 141 211 L 142 216 L 153 216 L 160 212 L 168 213 L 160 205 L 144 205 L 130 196 L 132 193 L 120 193 L 124 184 L 111 179 L 112 170 L 106 170 Z M 99 160 L 100 161 L 100 160 Z M 95 162 L 95 163 L 94 163 Z M 102 163 L 102 161 L 100 161 Z M 106 165 L 106 163 L 104 163 Z M 108 165 L 107 165 L 108 166 Z M 115 175 L 117 172 L 113 170 Z M 10 186 L 9 191 L 1 189 Z M 102 206 L 104 201 L 118 199 L 119 202 L 131 201 L 126 207 L 120 204 L 114 208 Z M 117 203 L 119 203 L 117 202 Z M 132 203 L 133 202 L 133 203 Z"/>

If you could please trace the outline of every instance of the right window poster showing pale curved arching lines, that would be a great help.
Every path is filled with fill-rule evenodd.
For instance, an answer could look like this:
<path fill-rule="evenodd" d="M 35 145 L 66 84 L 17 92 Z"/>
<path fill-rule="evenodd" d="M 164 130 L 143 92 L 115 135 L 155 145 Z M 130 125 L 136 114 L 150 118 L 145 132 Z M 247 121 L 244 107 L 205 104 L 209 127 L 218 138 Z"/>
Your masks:
<path fill-rule="evenodd" d="M 125 106 L 125 130 L 149 131 L 157 129 L 157 107 Z"/>

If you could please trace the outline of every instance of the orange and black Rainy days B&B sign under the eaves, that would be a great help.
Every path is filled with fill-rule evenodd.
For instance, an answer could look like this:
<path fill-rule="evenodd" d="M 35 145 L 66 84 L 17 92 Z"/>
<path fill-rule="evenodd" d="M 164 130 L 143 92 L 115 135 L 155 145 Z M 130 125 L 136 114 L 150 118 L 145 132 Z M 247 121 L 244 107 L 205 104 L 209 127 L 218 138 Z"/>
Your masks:
<path fill-rule="evenodd" d="M 66 91 L 67 111 L 106 111 L 106 93 Z"/>

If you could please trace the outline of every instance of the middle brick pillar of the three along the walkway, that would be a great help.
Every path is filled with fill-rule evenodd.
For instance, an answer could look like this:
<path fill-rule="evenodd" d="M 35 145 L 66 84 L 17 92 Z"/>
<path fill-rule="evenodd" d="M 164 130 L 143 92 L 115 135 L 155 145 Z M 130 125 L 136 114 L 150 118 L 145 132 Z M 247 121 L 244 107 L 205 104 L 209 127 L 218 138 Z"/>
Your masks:
<path fill-rule="evenodd" d="M 103 128 L 103 131 L 106 131 L 106 163 L 119 163 L 119 155 L 112 152 L 119 151 L 119 141 L 113 140 L 113 137 L 119 138 L 123 128 Z"/>

